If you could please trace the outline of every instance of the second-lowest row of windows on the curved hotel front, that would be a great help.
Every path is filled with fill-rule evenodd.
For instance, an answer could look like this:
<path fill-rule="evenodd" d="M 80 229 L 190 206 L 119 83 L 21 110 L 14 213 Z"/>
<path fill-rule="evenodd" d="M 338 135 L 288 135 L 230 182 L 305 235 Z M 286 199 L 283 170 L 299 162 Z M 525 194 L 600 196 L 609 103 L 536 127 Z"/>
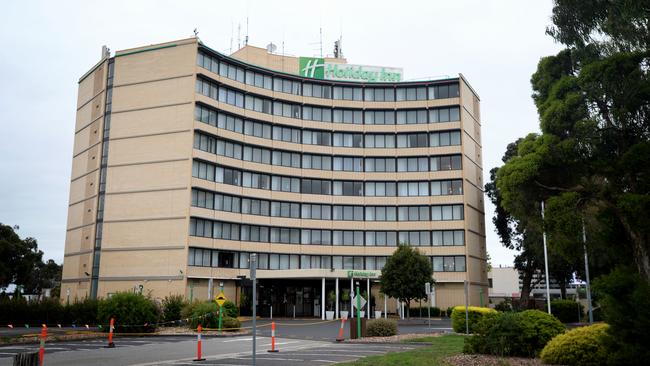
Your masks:
<path fill-rule="evenodd" d="M 344 246 L 462 246 L 463 230 L 361 231 L 320 230 L 232 224 L 190 219 L 190 235 L 204 238 L 263 243 Z"/>

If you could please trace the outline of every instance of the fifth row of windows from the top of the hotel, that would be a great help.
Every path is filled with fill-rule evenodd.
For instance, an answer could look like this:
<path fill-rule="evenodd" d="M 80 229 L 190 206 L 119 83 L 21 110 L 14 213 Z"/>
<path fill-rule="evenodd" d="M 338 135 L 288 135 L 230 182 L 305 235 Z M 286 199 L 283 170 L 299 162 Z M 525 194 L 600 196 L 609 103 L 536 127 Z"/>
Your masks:
<path fill-rule="evenodd" d="M 460 179 L 415 182 L 362 182 L 293 178 L 240 171 L 194 161 L 192 176 L 212 182 L 272 191 L 334 196 L 448 196 L 463 194 Z"/>

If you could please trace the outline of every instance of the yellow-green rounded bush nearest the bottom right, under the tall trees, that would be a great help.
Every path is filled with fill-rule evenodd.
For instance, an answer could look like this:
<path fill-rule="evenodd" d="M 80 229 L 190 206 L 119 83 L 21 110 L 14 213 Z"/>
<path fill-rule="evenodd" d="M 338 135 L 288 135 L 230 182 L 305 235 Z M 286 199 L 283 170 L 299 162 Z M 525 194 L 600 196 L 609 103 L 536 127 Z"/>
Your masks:
<path fill-rule="evenodd" d="M 606 363 L 607 324 L 572 329 L 551 339 L 542 350 L 542 361 L 551 365 L 597 366 Z"/>

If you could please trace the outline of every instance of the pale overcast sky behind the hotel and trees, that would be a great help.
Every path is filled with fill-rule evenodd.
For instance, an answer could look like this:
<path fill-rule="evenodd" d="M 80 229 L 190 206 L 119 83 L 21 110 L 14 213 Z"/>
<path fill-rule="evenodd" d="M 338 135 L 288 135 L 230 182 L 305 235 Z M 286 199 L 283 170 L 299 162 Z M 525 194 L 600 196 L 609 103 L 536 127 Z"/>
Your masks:
<path fill-rule="evenodd" d="M 339 35 L 350 63 L 406 79 L 462 73 L 481 97 L 484 180 L 505 146 L 538 130 L 530 76 L 560 46 L 550 1 L 10 1 L 0 12 L 0 222 L 63 260 L 77 80 L 112 51 L 192 36 L 311 56 Z M 248 22 L 247 22 L 248 19 Z M 248 26 L 247 26 L 248 23 Z M 238 31 L 241 29 L 241 32 Z M 239 36 L 241 35 L 241 36 Z M 493 265 L 511 265 L 486 207 Z"/>

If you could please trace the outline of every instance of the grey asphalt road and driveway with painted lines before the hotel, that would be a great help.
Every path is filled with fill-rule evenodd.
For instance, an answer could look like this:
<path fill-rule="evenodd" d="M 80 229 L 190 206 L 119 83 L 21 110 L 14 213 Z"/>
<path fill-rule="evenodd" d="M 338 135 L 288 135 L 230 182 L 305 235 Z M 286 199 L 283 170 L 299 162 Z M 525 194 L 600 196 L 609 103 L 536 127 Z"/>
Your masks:
<path fill-rule="evenodd" d="M 352 319 L 353 320 L 353 319 Z M 354 320 L 353 320 L 354 321 Z M 250 326 L 244 322 L 243 326 Z M 316 319 L 276 319 L 276 347 L 278 353 L 268 353 L 270 320 L 258 320 L 257 350 L 259 365 L 331 364 L 357 358 L 404 351 L 417 347 L 401 344 L 349 344 L 336 343 L 339 321 Z M 399 322 L 400 333 L 434 333 L 450 331 L 448 319 L 432 320 L 431 328 L 426 319 Z M 349 337 L 346 321 L 344 336 Z M 147 336 L 116 337 L 116 347 L 105 348 L 106 339 L 88 339 L 64 342 L 48 342 L 45 346 L 45 364 L 50 365 L 159 365 L 195 364 L 196 337 L 194 336 Z M 203 355 L 206 364 L 248 365 L 251 363 L 252 337 L 231 338 L 203 337 Z M 38 344 L 0 346 L 0 366 L 11 365 L 13 355 L 37 352 Z"/>

